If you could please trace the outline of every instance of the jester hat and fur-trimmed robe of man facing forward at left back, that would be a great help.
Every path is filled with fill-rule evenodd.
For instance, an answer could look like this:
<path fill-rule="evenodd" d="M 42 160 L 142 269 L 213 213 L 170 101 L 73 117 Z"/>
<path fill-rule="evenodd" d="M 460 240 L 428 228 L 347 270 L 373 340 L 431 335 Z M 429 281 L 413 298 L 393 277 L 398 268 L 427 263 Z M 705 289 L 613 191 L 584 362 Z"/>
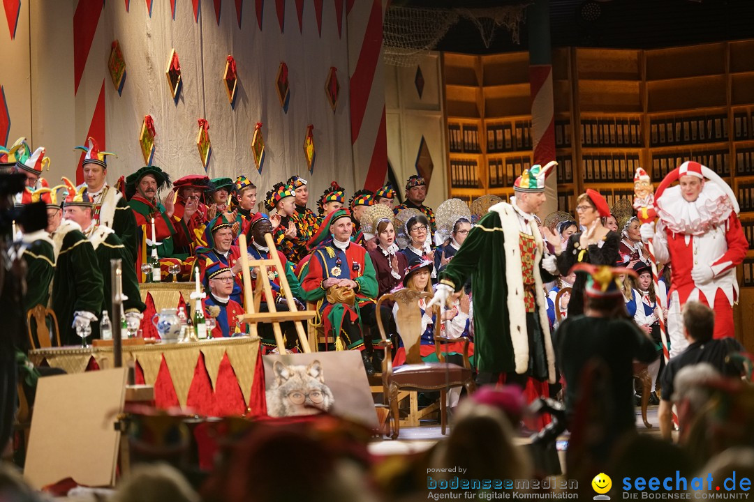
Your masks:
<path fill-rule="evenodd" d="M 107 156 L 118 157 L 110 152 L 100 151 L 97 141 L 91 137 L 87 139 L 86 146 L 78 146 L 74 150 L 84 151 L 84 160 L 81 162 L 81 166 L 95 164 L 105 170 L 107 170 Z M 123 187 L 124 179 L 121 178 L 118 183 Z M 115 235 L 118 236 L 118 239 L 121 239 L 131 256 L 129 263 L 133 262 L 137 254 L 136 218 L 133 216 L 133 211 L 131 211 L 124 193 L 105 183 L 100 191 L 87 190 L 87 194 L 94 202 L 94 221 L 97 221 L 98 225 L 112 228 L 115 231 Z"/>

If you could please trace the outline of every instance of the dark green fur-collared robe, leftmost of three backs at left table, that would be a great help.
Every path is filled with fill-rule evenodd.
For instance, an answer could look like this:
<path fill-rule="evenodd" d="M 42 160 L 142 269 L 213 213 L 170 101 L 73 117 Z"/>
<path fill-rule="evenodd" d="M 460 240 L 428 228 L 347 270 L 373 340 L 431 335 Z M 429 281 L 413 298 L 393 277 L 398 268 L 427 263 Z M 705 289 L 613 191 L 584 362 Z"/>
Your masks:
<path fill-rule="evenodd" d="M 36 305 L 47 306 L 50 300 L 50 281 L 55 273 L 55 254 L 52 240 L 44 230 L 23 236 L 26 249 L 26 297 L 23 300 L 24 314 Z"/>

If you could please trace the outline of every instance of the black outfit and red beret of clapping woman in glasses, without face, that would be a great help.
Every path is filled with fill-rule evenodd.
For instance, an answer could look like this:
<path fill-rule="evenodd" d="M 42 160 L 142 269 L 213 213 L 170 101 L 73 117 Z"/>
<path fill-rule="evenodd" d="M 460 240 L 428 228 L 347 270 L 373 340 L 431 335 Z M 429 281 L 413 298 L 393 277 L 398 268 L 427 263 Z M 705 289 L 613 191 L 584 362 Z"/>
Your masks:
<path fill-rule="evenodd" d="M 610 215 L 610 207 L 605 197 L 591 188 L 587 188 L 586 193 L 601 218 Z M 616 263 L 620 263 L 620 254 L 618 253 L 620 242 L 621 236 L 610 230 L 601 241 L 590 244 L 587 248 L 581 248 L 581 232 L 573 233 L 569 237 L 566 251 L 563 251 L 557 257 L 558 270 L 561 275 L 568 275 L 569 270 L 576 263 L 615 266 Z M 584 312 L 584 284 L 586 283 L 586 273 L 579 272 L 576 274 L 576 280 L 571 288 L 571 300 L 568 304 L 569 316 L 580 315 Z"/>

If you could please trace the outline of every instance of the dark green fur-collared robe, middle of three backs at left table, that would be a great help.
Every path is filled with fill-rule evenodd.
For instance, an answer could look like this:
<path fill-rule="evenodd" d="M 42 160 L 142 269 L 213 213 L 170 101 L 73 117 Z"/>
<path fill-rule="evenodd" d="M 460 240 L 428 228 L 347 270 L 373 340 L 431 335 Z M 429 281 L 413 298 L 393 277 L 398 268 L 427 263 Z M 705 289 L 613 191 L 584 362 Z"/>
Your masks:
<path fill-rule="evenodd" d="M 103 279 L 97 266 L 94 248 L 81 233 L 81 227 L 65 220 L 53 236 L 55 275 L 52 286 L 52 309 L 57 315 L 60 342 L 79 345 L 81 338 L 72 327 L 74 312 L 102 315 Z"/>

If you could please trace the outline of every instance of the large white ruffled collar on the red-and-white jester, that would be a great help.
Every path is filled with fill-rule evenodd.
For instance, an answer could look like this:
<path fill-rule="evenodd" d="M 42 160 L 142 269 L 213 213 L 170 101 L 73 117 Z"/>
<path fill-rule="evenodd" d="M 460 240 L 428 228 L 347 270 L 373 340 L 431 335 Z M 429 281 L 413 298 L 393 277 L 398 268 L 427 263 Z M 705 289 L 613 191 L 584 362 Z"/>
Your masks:
<path fill-rule="evenodd" d="M 698 236 L 725 224 L 733 211 L 731 199 L 714 183 L 705 183 L 694 202 L 683 198 L 681 187 L 670 187 L 655 202 L 657 215 L 673 233 Z"/>

